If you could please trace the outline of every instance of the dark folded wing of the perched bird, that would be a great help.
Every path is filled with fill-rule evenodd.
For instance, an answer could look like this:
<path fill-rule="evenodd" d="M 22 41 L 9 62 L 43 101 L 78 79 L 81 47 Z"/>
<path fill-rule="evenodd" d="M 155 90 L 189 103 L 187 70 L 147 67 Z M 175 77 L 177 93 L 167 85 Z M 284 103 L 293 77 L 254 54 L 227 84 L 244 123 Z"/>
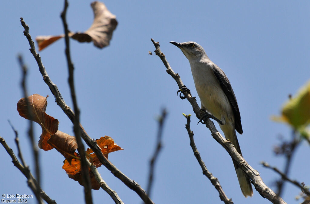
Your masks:
<path fill-rule="evenodd" d="M 233 114 L 235 116 L 235 129 L 237 132 L 240 134 L 243 133 L 242 131 L 242 126 L 241 126 L 241 117 L 240 117 L 240 112 L 237 104 L 237 99 L 235 96 L 235 93 L 232 90 L 232 86 L 230 85 L 230 82 L 228 78 L 226 77 L 225 73 L 223 72 L 222 69 L 217 67 L 216 65 L 212 65 L 212 71 L 219 82 L 219 85 L 222 87 L 224 93 L 226 94 L 229 103 L 232 107 Z"/>

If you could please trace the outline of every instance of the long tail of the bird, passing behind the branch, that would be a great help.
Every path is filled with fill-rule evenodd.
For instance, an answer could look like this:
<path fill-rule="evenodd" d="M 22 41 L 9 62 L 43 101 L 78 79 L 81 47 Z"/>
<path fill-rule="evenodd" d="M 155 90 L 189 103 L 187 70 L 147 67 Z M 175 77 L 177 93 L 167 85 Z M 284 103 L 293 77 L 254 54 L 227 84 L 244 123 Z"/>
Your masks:
<path fill-rule="evenodd" d="M 235 130 L 224 131 L 224 135 L 226 139 L 232 142 L 232 144 L 235 146 L 237 151 L 241 154 L 241 149 L 240 149 L 239 142 L 237 139 L 236 131 Z M 252 188 L 249 178 L 247 177 L 246 173 L 242 171 L 242 169 L 238 166 L 237 162 L 235 162 L 234 160 L 232 160 L 232 162 L 233 162 L 233 165 L 235 166 L 240 188 L 241 188 L 241 191 L 244 197 L 248 197 L 248 196 L 252 197 L 253 188 Z"/>

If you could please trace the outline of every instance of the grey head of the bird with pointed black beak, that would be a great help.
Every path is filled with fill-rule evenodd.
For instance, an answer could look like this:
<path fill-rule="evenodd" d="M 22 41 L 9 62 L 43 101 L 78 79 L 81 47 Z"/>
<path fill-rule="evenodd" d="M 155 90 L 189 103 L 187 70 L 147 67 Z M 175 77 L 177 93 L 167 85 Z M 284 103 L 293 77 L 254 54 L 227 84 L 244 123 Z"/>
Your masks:
<path fill-rule="evenodd" d="M 179 43 L 171 41 L 170 43 L 179 47 L 189 61 L 199 60 L 201 57 L 208 57 L 203 47 L 196 42 L 190 41 Z"/>

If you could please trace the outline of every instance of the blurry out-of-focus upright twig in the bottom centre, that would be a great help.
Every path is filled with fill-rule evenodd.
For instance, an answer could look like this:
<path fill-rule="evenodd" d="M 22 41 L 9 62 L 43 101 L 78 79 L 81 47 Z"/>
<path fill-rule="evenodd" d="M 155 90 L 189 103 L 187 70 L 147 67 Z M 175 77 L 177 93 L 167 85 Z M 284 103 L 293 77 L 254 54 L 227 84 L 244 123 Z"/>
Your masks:
<path fill-rule="evenodd" d="M 159 152 L 162 148 L 162 130 L 164 126 L 164 122 L 166 119 L 166 109 L 162 109 L 162 115 L 158 119 L 158 131 L 157 131 L 157 142 L 156 142 L 156 148 L 153 154 L 153 157 L 150 159 L 150 171 L 148 173 L 148 185 L 146 188 L 146 193 L 149 197 L 151 197 L 151 189 L 153 184 L 153 177 L 154 177 L 154 171 L 155 171 L 155 162 L 157 161 Z"/>

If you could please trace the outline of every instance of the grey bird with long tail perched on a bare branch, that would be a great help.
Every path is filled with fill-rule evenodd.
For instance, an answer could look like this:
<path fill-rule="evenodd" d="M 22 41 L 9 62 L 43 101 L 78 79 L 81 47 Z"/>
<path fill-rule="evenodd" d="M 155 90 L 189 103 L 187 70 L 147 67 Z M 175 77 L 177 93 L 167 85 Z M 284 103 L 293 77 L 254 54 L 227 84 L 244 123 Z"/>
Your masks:
<path fill-rule="evenodd" d="M 179 47 L 189 61 L 197 94 L 201 101 L 201 110 L 207 111 L 207 114 L 210 113 L 218 119 L 216 121 L 225 138 L 232 142 L 242 156 L 236 134 L 236 131 L 240 134 L 243 133 L 240 111 L 227 76 L 209 59 L 203 47 L 198 43 L 192 41 L 181 43 L 171 41 L 170 43 Z M 243 195 L 252 197 L 253 188 L 250 179 L 237 162 L 234 160 L 232 162 Z"/>

